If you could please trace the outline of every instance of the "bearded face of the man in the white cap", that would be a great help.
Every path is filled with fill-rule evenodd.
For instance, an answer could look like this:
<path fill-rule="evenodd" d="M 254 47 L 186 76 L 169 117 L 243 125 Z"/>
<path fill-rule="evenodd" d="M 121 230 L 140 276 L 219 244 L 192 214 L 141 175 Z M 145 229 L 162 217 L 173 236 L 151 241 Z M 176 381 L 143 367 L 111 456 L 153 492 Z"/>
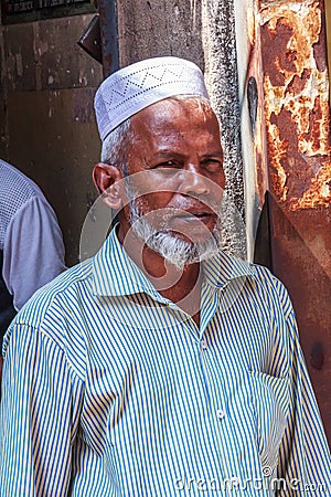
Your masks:
<path fill-rule="evenodd" d="M 179 245 L 185 253 L 190 247 L 204 251 L 216 231 L 224 188 L 216 116 L 192 99 L 168 98 L 135 115 L 131 126 L 135 144 L 128 155 L 130 202 L 121 215 L 124 233 L 132 228 L 163 256 L 160 239 L 170 252 Z"/>

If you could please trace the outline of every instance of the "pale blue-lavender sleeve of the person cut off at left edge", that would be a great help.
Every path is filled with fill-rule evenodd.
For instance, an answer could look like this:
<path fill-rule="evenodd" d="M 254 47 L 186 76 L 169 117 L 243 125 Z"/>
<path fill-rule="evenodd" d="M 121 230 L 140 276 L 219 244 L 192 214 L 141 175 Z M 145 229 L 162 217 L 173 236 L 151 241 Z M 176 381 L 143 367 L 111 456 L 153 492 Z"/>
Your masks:
<path fill-rule="evenodd" d="M 17 310 L 40 287 L 65 269 L 56 215 L 45 199 L 33 197 L 11 220 L 3 244 L 2 274 Z"/>

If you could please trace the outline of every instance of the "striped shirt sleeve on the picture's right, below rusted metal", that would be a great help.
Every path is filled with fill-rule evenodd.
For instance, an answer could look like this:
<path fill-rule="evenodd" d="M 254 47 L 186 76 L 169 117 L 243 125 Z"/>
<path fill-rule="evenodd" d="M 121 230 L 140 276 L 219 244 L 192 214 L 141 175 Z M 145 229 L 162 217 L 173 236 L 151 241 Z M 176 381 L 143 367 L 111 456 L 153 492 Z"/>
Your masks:
<path fill-rule="evenodd" d="M 290 343 L 290 405 L 279 453 L 277 496 L 325 497 L 331 495 L 330 451 L 288 296 L 285 307 Z"/>

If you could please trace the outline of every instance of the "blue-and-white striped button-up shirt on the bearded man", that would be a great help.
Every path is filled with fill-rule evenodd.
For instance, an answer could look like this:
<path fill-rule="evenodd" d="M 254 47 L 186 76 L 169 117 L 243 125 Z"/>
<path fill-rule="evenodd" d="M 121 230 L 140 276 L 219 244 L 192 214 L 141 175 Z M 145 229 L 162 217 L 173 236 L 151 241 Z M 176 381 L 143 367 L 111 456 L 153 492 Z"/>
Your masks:
<path fill-rule="evenodd" d="M 3 343 L 1 497 L 331 495 L 287 292 L 223 252 L 202 268 L 200 328 L 114 231 L 19 313 Z"/>

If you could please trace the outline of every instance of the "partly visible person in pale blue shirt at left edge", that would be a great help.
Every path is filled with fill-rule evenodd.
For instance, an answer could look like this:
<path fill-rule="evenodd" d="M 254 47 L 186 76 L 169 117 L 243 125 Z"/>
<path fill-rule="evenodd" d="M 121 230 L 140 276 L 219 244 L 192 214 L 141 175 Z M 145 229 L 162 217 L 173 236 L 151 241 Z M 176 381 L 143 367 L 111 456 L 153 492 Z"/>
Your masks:
<path fill-rule="evenodd" d="M 25 302 L 65 268 L 56 215 L 40 188 L 0 159 L 0 345 Z M 0 379 L 2 357 L 0 358 Z"/>

